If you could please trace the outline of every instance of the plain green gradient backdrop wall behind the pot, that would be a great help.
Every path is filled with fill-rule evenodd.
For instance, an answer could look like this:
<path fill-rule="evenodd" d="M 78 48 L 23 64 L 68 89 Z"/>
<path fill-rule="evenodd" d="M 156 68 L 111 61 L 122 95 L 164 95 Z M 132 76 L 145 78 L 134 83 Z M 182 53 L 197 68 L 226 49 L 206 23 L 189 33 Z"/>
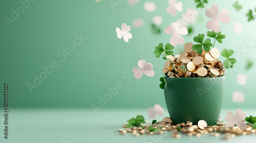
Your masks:
<path fill-rule="evenodd" d="M 4 17 L 11 17 L 11 9 L 16 11 L 19 1 L 0 1 L 0 81 L 9 84 L 9 106 L 12 107 L 91 107 L 98 104 L 99 96 L 108 93 L 108 87 L 122 83 L 122 89 L 105 107 L 149 107 L 156 103 L 165 107 L 163 90 L 159 88 L 159 78 L 162 76 L 164 60 L 155 58 L 154 48 L 158 43 L 169 42 L 170 35 L 163 32 L 164 28 L 185 12 L 187 8 L 195 7 L 194 1 L 181 1 L 183 11 L 173 17 L 166 12 L 166 1 L 155 1 L 155 12 L 146 12 L 144 1 L 136 6 L 130 6 L 124 1 L 113 10 L 109 1 L 35 1 L 31 6 L 10 23 L 8 28 Z M 219 49 L 233 49 L 238 52 L 246 43 L 245 39 L 256 41 L 256 21 L 248 22 L 245 14 L 248 9 L 256 7 L 255 1 L 239 1 L 243 9 L 236 11 L 232 7 L 234 1 L 210 1 L 206 7 L 199 10 L 198 21 L 191 26 L 194 32 L 183 36 L 185 42 L 193 42 L 198 33 L 206 34 L 205 10 L 212 4 L 220 9 L 230 11 L 231 22 L 221 24 L 222 33 L 226 35 L 223 44 L 216 44 Z M 162 33 L 154 35 L 151 31 L 152 18 L 155 15 L 163 17 L 160 26 Z M 132 27 L 136 18 L 144 20 L 140 29 Z M 234 22 L 243 23 L 243 33 L 238 35 L 233 31 Z M 118 39 L 115 29 L 122 23 L 132 27 L 133 38 L 129 42 Z M 87 37 L 76 47 L 64 61 L 57 57 L 58 51 L 73 43 L 75 34 L 82 33 Z M 175 54 L 182 52 L 183 45 L 175 47 Z M 226 92 L 224 107 L 256 107 L 255 104 L 255 66 L 245 70 L 247 59 L 255 59 L 256 44 L 237 59 L 234 68 L 226 76 Z M 145 59 L 146 56 L 146 59 Z M 128 72 L 140 59 L 151 62 L 154 66 L 154 77 L 143 77 L 140 80 L 131 77 Z M 224 60 L 223 58 L 220 58 Z M 46 80 L 32 89 L 27 83 L 33 83 L 33 75 L 43 71 L 42 66 L 48 66 L 53 60 L 58 67 L 48 75 Z M 245 86 L 238 85 L 237 75 L 248 76 Z M 122 77 L 123 75 L 123 77 Z M 185 87 L 181 87 L 181 90 Z M 232 102 L 232 92 L 244 92 L 245 102 Z M 3 86 L 0 87 L 3 93 Z M 182 95 L 181 95 L 182 96 Z M 1 105 L 3 99 L 0 99 Z"/>

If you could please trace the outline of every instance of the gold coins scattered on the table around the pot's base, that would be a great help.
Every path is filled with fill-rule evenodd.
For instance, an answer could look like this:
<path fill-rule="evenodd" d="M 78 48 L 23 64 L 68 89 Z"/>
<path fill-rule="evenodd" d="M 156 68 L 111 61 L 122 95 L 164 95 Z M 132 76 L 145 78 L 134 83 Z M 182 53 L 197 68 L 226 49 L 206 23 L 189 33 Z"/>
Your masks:
<path fill-rule="evenodd" d="M 157 132 L 149 131 L 148 127 L 151 125 L 142 125 L 144 128 L 136 126 L 126 128 L 127 124 L 122 125 L 122 127 L 125 129 L 119 129 L 118 131 L 121 134 L 131 132 L 134 136 L 140 136 L 142 134 L 164 134 L 165 132 L 169 132 L 170 136 L 174 138 L 180 138 L 181 133 L 186 134 L 187 136 L 197 137 L 208 133 L 216 137 L 224 134 L 222 135 L 221 139 L 230 139 L 236 135 L 251 135 L 256 133 L 256 129 L 253 129 L 251 125 L 247 125 L 245 128 L 239 128 L 238 126 L 226 128 L 225 125 L 226 124 L 224 123 L 217 123 L 215 126 L 207 126 L 207 123 L 204 120 L 200 120 L 197 125 L 193 125 L 193 123 L 190 121 L 174 125 L 170 117 L 164 117 L 162 121 L 152 125 L 154 128 L 158 128 Z"/>

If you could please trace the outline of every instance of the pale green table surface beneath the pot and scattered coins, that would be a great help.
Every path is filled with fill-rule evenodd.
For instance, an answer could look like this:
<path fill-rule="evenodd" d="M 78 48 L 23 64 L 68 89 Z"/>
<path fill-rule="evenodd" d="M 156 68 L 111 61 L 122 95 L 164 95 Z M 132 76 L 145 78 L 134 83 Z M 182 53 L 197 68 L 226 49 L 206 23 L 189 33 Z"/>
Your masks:
<path fill-rule="evenodd" d="M 242 108 L 247 115 L 256 115 L 256 109 Z M 4 115 L 3 110 L 0 110 Z M 224 120 L 227 111 L 236 109 L 222 109 L 221 120 Z M 4 116 L 0 116 L 0 142 L 256 142 L 256 134 L 241 135 L 222 140 L 221 136 L 215 137 L 210 134 L 187 136 L 181 134 L 181 138 L 172 138 L 171 132 L 166 131 L 163 135 L 140 135 L 133 136 L 132 133 L 121 135 L 117 132 L 122 129 L 127 119 L 142 114 L 146 121 L 153 119 L 148 117 L 146 108 L 103 108 L 97 114 L 91 108 L 10 108 L 9 109 L 9 139 L 3 135 Z M 163 116 L 157 116 L 160 121 L 168 116 L 165 109 Z"/>

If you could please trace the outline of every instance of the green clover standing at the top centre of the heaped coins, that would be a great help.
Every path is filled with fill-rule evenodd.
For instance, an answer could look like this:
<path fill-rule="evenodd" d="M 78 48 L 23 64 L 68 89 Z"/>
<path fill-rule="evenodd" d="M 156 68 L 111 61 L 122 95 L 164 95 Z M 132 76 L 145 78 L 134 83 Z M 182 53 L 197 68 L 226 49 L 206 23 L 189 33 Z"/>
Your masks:
<path fill-rule="evenodd" d="M 210 43 L 209 38 L 207 38 L 204 41 L 204 34 L 198 34 L 198 36 L 195 36 L 194 41 L 200 43 L 200 44 L 194 44 L 193 47 L 192 47 L 192 49 L 194 51 L 197 51 L 198 54 L 201 54 L 203 52 L 202 47 L 204 47 L 204 50 L 206 52 L 208 52 L 210 50 L 210 46 L 212 46 L 212 44 Z"/>

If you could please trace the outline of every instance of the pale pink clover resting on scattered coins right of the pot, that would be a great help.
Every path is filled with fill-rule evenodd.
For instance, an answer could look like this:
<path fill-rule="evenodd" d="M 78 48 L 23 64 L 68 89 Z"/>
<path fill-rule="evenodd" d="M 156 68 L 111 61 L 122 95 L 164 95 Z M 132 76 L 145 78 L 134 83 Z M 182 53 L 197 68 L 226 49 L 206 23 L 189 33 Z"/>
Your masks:
<path fill-rule="evenodd" d="M 236 124 L 238 127 L 243 128 L 246 127 L 246 124 L 241 121 L 246 117 L 246 113 L 242 112 L 241 109 L 237 109 L 235 115 L 231 112 L 227 112 L 227 116 L 225 117 L 225 121 L 228 122 L 226 124 L 226 127 L 230 128 L 233 127 L 234 124 Z"/>

